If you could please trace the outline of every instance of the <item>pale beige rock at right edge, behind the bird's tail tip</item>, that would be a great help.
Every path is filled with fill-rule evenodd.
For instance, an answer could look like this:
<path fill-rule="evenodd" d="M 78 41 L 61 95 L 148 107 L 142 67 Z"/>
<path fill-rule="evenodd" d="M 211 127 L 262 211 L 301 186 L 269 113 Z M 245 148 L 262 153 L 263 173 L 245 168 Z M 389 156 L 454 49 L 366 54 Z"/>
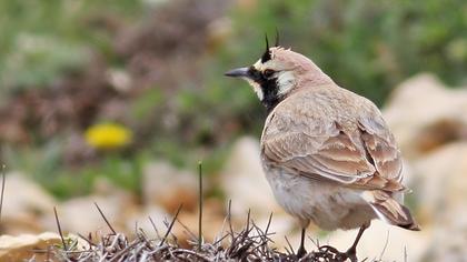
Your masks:
<path fill-rule="evenodd" d="M 421 224 L 436 231 L 424 261 L 467 258 L 467 141 L 446 144 L 414 162 Z"/>

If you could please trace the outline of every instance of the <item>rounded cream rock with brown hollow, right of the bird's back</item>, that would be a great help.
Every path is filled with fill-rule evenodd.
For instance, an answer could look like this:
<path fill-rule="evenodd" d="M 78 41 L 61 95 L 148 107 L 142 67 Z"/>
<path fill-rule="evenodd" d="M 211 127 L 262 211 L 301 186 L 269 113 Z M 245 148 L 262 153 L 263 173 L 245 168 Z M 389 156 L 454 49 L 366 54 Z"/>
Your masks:
<path fill-rule="evenodd" d="M 431 74 L 418 74 L 395 89 L 385 110 L 405 157 L 418 158 L 467 138 L 467 90 L 448 89 Z"/>

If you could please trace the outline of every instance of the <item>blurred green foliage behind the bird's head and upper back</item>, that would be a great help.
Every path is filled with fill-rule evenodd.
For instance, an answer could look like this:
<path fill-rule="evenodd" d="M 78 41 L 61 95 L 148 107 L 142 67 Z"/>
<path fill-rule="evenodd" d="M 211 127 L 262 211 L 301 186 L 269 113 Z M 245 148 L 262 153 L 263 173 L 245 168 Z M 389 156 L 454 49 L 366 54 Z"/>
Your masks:
<path fill-rule="evenodd" d="M 262 0 L 234 11 L 236 36 L 226 53 L 232 64 L 251 63 L 264 49 L 264 33 L 272 38 L 277 27 L 284 47 L 381 104 L 395 84 L 417 72 L 466 82 L 466 13 L 461 0 Z"/>

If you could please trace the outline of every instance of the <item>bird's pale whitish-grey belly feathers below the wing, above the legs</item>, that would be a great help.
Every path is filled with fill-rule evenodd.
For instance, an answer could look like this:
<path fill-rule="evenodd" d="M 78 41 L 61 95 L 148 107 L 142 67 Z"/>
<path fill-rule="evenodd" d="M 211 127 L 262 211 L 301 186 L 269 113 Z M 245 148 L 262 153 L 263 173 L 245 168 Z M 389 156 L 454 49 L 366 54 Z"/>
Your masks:
<path fill-rule="evenodd" d="M 280 168 L 266 169 L 276 201 L 297 218 L 301 226 L 312 221 L 324 230 L 346 230 L 376 218 L 359 190 L 289 174 Z"/>

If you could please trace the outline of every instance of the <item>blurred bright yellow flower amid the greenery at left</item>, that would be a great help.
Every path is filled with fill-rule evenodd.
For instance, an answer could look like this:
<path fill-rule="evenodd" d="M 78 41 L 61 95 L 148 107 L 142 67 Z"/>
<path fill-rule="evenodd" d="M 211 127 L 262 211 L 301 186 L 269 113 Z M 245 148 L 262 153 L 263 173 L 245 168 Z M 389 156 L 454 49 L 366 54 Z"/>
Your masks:
<path fill-rule="evenodd" d="M 86 142 L 96 149 L 109 150 L 131 142 L 131 130 L 117 123 L 95 124 L 85 133 Z"/>

